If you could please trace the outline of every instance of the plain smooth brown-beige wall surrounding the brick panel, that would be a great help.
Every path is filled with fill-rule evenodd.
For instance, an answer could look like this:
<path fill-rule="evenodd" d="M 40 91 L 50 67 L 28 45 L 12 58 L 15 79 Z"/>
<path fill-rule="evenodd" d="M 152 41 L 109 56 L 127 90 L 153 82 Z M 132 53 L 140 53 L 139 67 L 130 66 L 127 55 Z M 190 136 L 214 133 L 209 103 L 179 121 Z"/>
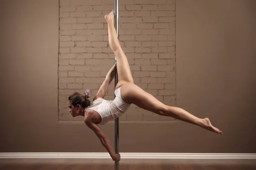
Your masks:
<path fill-rule="evenodd" d="M 122 121 L 120 152 L 256 153 L 255 3 L 207 2 L 176 4 L 177 106 L 224 135 Z M 1 0 L 0 11 L 0 152 L 106 152 L 82 122 L 58 121 L 58 0 Z M 113 123 L 101 127 L 113 146 Z"/>

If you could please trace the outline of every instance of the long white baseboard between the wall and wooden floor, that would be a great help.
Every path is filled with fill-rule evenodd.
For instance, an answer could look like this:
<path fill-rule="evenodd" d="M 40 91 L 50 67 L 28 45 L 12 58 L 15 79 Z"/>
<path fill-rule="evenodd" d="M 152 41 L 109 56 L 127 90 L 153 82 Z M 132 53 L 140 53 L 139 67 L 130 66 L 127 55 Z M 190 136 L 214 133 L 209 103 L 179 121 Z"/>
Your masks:
<path fill-rule="evenodd" d="M 256 159 L 256 153 L 120 153 L 121 159 Z M 108 153 L 0 153 L 0 159 L 111 159 Z"/>

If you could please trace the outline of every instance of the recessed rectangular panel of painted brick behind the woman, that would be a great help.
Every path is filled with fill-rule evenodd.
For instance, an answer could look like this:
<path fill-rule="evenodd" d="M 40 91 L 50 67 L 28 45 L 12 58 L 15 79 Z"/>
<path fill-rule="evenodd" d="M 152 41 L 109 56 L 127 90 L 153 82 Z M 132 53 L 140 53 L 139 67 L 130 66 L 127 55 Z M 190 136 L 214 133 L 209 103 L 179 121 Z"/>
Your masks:
<path fill-rule="evenodd" d="M 114 0 L 60 0 L 59 120 L 82 120 L 68 112 L 67 98 L 83 89 L 93 99 L 114 57 L 104 18 Z M 175 106 L 175 0 L 119 0 L 119 41 L 134 83 L 166 105 Z M 114 99 L 114 80 L 105 96 Z M 120 121 L 166 121 L 171 117 L 131 108 Z"/>

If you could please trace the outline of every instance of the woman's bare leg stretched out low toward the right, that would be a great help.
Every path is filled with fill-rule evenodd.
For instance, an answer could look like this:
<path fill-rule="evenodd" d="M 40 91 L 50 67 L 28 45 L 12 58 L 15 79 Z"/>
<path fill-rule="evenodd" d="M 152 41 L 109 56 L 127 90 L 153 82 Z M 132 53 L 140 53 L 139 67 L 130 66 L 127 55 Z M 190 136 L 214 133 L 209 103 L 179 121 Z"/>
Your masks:
<path fill-rule="evenodd" d="M 210 130 L 212 132 L 222 134 L 218 128 L 212 126 L 208 118 L 200 119 L 183 110 L 182 108 L 165 105 L 151 94 L 143 91 L 143 89 L 139 88 L 135 84 L 125 84 L 122 88 L 122 98 L 128 103 L 133 103 L 140 108 L 159 114 L 161 116 L 170 116 L 175 119 L 203 127 L 204 129 Z"/>

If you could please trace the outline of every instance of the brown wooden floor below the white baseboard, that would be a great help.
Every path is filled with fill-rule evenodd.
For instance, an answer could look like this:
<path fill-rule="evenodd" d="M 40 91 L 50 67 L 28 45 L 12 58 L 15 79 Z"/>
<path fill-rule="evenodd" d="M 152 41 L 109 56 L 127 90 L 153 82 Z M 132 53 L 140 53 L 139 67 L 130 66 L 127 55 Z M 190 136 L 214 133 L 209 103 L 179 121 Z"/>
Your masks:
<path fill-rule="evenodd" d="M 114 161 L 0 159 L 0 170 L 114 170 Z M 122 159 L 119 170 L 256 170 L 256 160 Z"/>

